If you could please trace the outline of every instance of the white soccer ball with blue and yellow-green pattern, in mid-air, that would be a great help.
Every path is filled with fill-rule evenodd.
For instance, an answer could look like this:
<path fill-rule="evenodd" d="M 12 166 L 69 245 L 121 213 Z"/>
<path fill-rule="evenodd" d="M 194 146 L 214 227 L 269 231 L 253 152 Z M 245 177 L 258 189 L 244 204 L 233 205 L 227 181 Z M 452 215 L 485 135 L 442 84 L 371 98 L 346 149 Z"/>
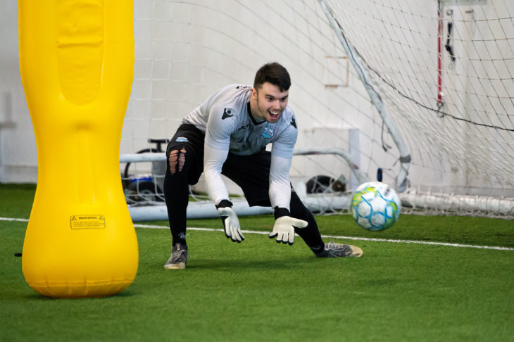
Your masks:
<path fill-rule="evenodd" d="M 398 194 L 382 182 L 361 184 L 353 192 L 351 215 L 364 229 L 378 232 L 391 227 L 400 216 Z"/>

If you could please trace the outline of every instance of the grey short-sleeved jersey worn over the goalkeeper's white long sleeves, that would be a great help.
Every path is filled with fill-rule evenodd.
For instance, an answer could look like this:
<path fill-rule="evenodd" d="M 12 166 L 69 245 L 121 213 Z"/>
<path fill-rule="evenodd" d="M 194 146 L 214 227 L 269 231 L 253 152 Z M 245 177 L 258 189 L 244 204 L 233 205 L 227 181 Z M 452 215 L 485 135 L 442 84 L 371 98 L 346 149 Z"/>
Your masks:
<path fill-rule="evenodd" d="M 239 156 L 258 153 L 272 143 L 272 154 L 292 158 L 298 131 L 294 113 L 287 106 L 275 123 L 257 122 L 249 113 L 251 88 L 230 84 L 195 108 L 184 123 L 206 132 L 206 144 Z"/>

